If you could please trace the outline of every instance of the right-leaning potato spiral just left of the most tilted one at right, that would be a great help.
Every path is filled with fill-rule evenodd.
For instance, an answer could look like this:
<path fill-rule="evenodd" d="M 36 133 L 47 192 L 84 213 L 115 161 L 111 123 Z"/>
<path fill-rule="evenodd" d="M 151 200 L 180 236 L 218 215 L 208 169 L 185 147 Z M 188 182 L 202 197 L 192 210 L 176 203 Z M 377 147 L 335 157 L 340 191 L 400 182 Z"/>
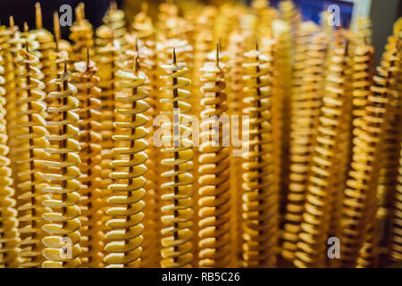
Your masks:
<path fill-rule="evenodd" d="M 339 31 L 340 32 L 340 31 Z M 331 223 L 331 203 L 336 198 L 335 185 L 346 133 L 343 116 L 347 114 L 346 45 L 339 41 L 331 50 L 325 95 L 315 139 L 313 162 L 309 168 L 303 221 L 298 233 L 294 264 L 297 267 L 323 267 L 326 240 Z"/>

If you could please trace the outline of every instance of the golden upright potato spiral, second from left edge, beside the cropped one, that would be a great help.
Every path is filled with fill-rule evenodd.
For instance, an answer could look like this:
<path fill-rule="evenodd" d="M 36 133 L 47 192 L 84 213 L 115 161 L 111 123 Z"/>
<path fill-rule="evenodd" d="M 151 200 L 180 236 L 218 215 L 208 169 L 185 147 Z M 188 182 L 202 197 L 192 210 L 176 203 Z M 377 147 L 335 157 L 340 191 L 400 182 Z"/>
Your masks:
<path fill-rule="evenodd" d="M 44 149 L 49 146 L 46 139 L 48 132 L 44 120 L 46 93 L 43 91 L 45 84 L 41 81 L 43 73 L 38 69 L 38 57 L 30 54 L 28 43 L 25 49 L 19 50 L 19 56 L 15 62 L 21 66 L 22 72 L 17 75 L 16 105 L 16 131 L 13 145 L 17 210 L 20 221 L 21 235 L 21 267 L 38 267 L 42 261 L 44 224 L 42 214 L 49 211 L 42 206 L 42 202 L 48 199 L 42 189 L 46 187 L 43 179 L 43 160 L 46 159 Z"/>

